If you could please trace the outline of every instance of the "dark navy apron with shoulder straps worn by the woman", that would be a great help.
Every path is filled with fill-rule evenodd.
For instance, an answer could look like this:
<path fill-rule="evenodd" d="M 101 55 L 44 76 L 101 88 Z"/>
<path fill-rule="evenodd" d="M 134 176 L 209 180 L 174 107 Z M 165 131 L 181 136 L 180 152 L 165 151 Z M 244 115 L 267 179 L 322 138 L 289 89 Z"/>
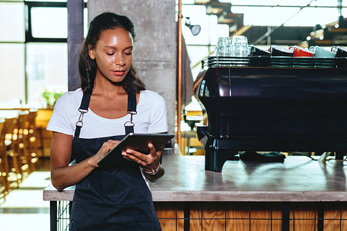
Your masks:
<path fill-rule="evenodd" d="M 76 123 L 71 159 L 76 163 L 95 155 L 109 139 L 120 140 L 125 135 L 95 139 L 80 138 L 83 114 L 87 113 L 90 94 L 83 94 L 80 118 Z M 133 132 L 133 114 L 136 114 L 136 95 L 128 94 L 130 126 L 126 134 Z M 128 166 L 94 169 L 76 185 L 71 207 L 69 230 L 161 230 L 155 214 L 151 191 L 146 185 L 139 166 L 129 162 Z"/>

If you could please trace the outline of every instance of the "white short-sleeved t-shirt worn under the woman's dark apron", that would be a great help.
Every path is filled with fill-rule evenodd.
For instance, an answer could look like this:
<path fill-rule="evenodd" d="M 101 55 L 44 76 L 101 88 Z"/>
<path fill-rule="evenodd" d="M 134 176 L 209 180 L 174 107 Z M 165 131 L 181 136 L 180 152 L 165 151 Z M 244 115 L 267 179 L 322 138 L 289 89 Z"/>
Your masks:
<path fill-rule="evenodd" d="M 80 108 L 82 96 L 81 88 L 62 95 L 56 102 L 47 130 L 74 135 L 76 123 L 81 114 L 78 108 Z M 162 96 L 150 90 L 141 91 L 136 110 L 137 114 L 133 115 L 135 133 L 167 132 L 167 110 Z M 130 114 L 119 119 L 105 119 L 89 110 L 84 114 L 80 137 L 125 135 L 124 123 L 127 121 L 130 121 Z"/>

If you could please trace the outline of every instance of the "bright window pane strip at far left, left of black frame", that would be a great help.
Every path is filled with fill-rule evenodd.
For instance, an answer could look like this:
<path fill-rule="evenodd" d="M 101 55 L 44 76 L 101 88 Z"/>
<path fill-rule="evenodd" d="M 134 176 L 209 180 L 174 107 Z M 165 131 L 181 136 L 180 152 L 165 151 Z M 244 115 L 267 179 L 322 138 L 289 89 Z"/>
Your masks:
<path fill-rule="evenodd" d="M 0 102 L 19 104 L 25 100 L 24 2 L 0 1 L 0 22 Z"/>

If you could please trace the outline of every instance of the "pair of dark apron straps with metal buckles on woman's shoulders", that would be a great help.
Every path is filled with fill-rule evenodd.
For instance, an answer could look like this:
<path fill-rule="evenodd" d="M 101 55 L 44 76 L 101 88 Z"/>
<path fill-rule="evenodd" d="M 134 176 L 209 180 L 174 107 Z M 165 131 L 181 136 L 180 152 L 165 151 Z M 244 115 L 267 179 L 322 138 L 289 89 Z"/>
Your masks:
<path fill-rule="evenodd" d="M 80 108 L 78 108 L 78 111 L 81 112 L 81 114 L 80 114 L 80 117 L 78 118 L 78 121 L 76 123 L 74 140 L 78 139 L 80 137 L 81 128 L 83 127 L 83 115 L 88 112 L 89 103 L 90 103 L 90 96 L 92 96 L 92 93 L 84 93 L 83 94 Z M 128 92 L 128 114 L 130 114 L 130 121 L 124 123 L 126 135 L 128 135 L 130 132 L 134 132 L 135 124 L 133 123 L 133 115 L 137 114 L 137 112 L 136 112 L 136 94 L 132 94 L 130 92 Z"/>

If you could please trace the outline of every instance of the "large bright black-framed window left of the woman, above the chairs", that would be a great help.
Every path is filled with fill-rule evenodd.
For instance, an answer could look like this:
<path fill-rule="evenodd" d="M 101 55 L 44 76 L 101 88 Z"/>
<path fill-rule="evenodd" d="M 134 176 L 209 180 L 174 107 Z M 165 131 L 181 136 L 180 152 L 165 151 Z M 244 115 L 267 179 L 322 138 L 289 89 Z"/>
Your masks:
<path fill-rule="evenodd" d="M 66 92 L 67 0 L 0 0 L 0 22 L 0 104 L 41 108 L 44 88 Z"/>

